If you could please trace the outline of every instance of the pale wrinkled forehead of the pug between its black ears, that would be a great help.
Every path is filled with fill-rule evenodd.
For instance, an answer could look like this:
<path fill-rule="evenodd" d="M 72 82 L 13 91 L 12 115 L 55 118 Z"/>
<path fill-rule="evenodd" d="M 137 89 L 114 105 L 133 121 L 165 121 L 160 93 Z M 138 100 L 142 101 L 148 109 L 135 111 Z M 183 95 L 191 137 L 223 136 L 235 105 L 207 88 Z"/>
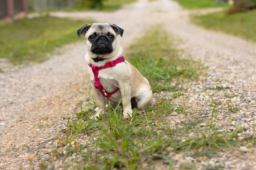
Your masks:
<path fill-rule="evenodd" d="M 91 27 L 90 30 L 88 30 L 88 34 L 108 34 L 108 33 L 114 33 L 113 29 L 108 23 L 94 23 Z"/>

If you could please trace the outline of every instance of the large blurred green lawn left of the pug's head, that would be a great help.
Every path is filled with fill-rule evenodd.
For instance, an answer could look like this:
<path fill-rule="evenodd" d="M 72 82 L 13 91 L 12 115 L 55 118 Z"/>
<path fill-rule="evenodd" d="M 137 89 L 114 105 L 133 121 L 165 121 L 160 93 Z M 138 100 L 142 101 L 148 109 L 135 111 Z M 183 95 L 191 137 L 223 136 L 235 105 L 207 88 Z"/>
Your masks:
<path fill-rule="evenodd" d="M 56 47 L 75 42 L 76 30 L 91 20 L 39 17 L 0 25 L 0 58 L 13 64 L 42 62 Z"/>

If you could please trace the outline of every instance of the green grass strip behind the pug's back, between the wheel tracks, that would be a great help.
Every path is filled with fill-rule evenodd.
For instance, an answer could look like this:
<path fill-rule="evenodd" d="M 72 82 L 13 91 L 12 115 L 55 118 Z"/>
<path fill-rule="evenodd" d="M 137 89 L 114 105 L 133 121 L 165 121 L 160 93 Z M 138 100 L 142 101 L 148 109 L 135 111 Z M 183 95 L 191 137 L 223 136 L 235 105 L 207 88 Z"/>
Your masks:
<path fill-rule="evenodd" d="M 177 91 L 187 80 L 198 78 L 201 62 L 182 59 L 172 35 L 160 27 L 152 30 L 131 45 L 125 57 L 148 79 L 153 92 Z"/>

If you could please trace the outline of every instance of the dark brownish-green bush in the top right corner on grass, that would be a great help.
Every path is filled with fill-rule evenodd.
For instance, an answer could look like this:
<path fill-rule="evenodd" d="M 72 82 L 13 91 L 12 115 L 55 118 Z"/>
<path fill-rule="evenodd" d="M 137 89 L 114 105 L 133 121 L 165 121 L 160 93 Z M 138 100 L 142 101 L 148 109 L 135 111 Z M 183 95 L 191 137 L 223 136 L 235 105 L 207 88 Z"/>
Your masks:
<path fill-rule="evenodd" d="M 254 8 L 256 8 L 256 0 L 234 0 L 234 6 L 230 8 L 228 14 L 249 11 Z"/>

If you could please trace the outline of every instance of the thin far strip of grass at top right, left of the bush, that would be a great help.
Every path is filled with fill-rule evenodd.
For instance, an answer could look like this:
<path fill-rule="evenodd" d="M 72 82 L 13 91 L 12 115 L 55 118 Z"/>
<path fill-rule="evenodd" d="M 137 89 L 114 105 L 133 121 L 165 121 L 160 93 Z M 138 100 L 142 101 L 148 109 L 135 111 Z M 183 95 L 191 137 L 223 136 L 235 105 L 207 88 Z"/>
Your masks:
<path fill-rule="evenodd" d="M 227 3 L 216 3 L 215 0 L 175 0 L 184 8 L 213 8 L 228 6 Z"/>

